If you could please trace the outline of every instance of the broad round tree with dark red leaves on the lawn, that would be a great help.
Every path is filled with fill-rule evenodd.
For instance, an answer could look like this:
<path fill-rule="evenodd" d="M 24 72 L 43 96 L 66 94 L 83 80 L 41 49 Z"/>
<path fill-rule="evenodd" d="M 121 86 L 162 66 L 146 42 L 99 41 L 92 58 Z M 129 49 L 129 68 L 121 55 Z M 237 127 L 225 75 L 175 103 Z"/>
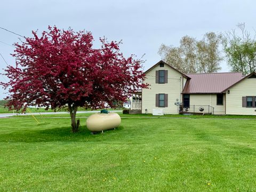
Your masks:
<path fill-rule="evenodd" d="M 77 132 L 78 107 L 114 107 L 133 90 L 147 87 L 142 61 L 134 55 L 125 58 L 118 42 L 101 38 L 101 48 L 94 49 L 90 32 L 49 26 L 41 37 L 32 33 L 34 37 L 14 44 L 16 65 L 5 69 L 9 82 L 1 82 L 9 89 L 9 108 L 68 106 L 72 131 Z"/>

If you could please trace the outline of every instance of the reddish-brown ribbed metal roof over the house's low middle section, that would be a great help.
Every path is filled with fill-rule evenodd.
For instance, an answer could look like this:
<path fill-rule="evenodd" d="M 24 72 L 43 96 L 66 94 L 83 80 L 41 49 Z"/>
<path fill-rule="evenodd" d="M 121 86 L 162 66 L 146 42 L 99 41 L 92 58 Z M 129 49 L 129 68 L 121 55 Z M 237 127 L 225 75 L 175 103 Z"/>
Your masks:
<path fill-rule="evenodd" d="M 189 79 L 182 93 L 221 93 L 231 85 L 240 81 L 244 76 L 242 73 L 204 73 L 186 74 Z"/>

